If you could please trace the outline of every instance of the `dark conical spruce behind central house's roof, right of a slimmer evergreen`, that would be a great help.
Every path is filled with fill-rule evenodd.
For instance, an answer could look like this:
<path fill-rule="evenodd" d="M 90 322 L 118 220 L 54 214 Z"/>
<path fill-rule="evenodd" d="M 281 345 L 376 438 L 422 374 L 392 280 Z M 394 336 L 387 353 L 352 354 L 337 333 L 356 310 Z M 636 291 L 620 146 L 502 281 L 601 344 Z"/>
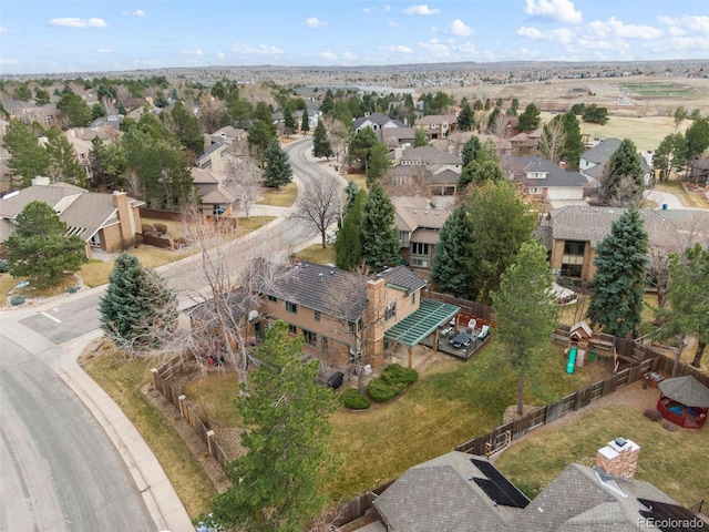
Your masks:
<path fill-rule="evenodd" d="M 395 265 L 400 258 L 395 208 L 384 186 L 376 181 L 362 207 L 362 255 L 372 272 Z"/>

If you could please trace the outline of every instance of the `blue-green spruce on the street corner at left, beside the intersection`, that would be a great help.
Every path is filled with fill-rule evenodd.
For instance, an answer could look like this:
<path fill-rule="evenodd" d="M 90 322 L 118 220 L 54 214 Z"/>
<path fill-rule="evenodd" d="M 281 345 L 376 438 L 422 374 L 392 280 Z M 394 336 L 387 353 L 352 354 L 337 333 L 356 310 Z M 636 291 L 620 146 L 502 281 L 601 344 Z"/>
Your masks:
<path fill-rule="evenodd" d="M 140 260 L 121 254 L 99 304 L 101 328 L 119 348 L 155 347 L 177 327 L 177 296 Z"/>

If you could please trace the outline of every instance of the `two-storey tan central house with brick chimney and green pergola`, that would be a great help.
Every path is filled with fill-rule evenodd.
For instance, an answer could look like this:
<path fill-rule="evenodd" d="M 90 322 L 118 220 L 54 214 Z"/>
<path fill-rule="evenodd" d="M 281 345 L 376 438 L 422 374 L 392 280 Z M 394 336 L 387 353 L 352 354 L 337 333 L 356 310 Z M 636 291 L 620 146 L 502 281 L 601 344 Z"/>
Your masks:
<path fill-rule="evenodd" d="M 263 296 L 263 314 L 302 335 L 309 356 L 330 368 L 347 368 L 363 354 L 364 364 L 381 367 L 401 345 L 412 348 L 459 307 L 422 297 L 427 283 L 405 266 L 372 277 L 335 266 L 300 263 L 280 276 Z M 404 362 L 405 364 L 405 362 Z"/>

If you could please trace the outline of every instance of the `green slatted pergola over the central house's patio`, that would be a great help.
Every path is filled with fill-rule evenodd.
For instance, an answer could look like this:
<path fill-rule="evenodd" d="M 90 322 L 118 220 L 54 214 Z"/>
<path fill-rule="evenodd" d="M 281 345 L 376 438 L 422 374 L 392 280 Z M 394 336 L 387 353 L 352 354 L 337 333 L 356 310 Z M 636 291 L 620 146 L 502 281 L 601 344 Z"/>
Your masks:
<path fill-rule="evenodd" d="M 409 367 L 413 358 L 413 346 L 429 337 L 439 327 L 449 323 L 461 308 L 435 299 L 421 298 L 418 310 L 411 313 L 384 332 L 384 338 L 409 348 Z"/>

